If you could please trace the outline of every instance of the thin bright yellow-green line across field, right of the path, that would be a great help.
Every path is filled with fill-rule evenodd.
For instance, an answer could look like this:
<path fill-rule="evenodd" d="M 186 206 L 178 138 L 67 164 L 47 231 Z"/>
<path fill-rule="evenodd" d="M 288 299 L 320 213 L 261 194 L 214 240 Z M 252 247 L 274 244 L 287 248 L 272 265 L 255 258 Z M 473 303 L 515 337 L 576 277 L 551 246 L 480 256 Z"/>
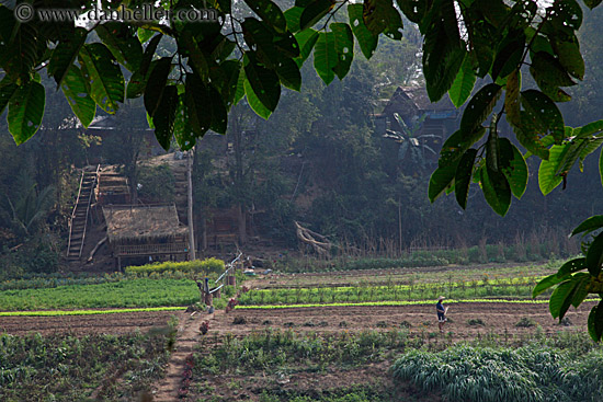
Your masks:
<path fill-rule="evenodd" d="M 599 301 L 600 299 L 585 299 L 584 301 Z M 360 302 L 343 302 L 343 303 L 306 303 L 306 305 L 248 305 L 237 306 L 236 309 L 298 309 L 298 308 L 316 308 L 316 307 L 362 307 L 362 306 L 420 306 L 433 305 L 433 300 L 410 300 L 410 301 L 360 301 Z M 548 299 L 448 299 L 447 305 L 452 303 L 517 303 L 517 305 L 545 305 Z"/>

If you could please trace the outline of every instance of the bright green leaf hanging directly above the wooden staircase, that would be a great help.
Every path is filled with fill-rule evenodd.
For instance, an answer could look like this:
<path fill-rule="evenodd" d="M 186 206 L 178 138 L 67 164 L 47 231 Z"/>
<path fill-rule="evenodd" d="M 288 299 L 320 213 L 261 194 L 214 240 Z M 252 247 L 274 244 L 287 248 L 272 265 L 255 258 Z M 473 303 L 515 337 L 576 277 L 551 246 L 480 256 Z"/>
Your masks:
<path fill-rule="evenodd" d="M 71 66 L 60 88 L 76 116 L 84 127 L 88 127 L 96 113 L 96 104 L 88 93 L 89 89 L 81 70 Z"/>

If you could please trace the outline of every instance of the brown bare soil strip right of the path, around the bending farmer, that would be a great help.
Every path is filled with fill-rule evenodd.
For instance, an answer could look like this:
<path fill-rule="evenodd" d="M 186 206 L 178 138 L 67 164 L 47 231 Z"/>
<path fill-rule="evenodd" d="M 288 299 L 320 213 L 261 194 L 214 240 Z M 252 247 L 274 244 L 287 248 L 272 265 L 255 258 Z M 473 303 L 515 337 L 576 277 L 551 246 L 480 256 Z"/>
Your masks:
<path fill-rule="evenodd" d="M 531 303 L 450 303 L 445 333 L 459 341 L 475 338 L 487 333 L 520 335 L 543 331 L 556 333 L 561 330 L 587 331 L 590 303 L 578 310 L 571 309 L 566 325 L 559 325 L 548 311 L 548 305 Z M 516 326 L 526 318 L 534 326 Z M 483 325 L 469 324 L 481 320 Z M 410 335 L 421 336 L 437 332 L 435 301 L 433 306 L 399 307 L 323 307 L 296 309 L 239 309 L 230 314 L 216 315 L 212 331 L 243 335 L 265 328 L 294 329 L 298 332 L 340 332 L 407 328 Z M 244 321 L 244 324 L 234 322 Z M 539 325 L 539 326 L 538 326 Z M 542 328 L 542 330 L 541 330 Z"/>

